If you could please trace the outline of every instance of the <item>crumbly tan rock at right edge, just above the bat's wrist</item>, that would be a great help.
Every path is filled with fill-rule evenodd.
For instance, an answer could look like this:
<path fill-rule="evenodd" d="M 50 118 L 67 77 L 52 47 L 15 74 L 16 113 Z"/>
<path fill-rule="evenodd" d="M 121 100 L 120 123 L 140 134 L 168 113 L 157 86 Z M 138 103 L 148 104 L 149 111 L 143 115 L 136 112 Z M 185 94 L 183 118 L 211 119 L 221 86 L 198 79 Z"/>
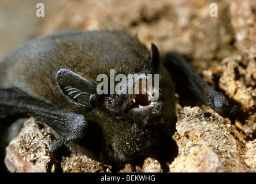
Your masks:
<path fill-rule="evenodd" d="M 244 113 L 255 112 L 256 106 L 256 63 L 246 62 L 241 56 L 222 60 L 223 74 L 219 86 L 229 98 L 240 104 Z"/>

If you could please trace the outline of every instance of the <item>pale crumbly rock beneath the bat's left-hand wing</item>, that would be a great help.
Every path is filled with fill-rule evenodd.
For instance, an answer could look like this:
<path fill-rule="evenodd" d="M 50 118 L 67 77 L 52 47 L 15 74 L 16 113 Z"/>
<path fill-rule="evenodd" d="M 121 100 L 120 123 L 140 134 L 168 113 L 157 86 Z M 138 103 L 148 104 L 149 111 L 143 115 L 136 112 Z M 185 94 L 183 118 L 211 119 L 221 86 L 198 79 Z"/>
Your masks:
<path fill-rule="evenodd" d="M 24 128 L 6 148 L 5 164 L 10 172 L 41 173 L 54 172 L 56 164 L 48 148 L 53 142 L 49 128 L 36 122 L 35 118 L 25 121 Z"/>

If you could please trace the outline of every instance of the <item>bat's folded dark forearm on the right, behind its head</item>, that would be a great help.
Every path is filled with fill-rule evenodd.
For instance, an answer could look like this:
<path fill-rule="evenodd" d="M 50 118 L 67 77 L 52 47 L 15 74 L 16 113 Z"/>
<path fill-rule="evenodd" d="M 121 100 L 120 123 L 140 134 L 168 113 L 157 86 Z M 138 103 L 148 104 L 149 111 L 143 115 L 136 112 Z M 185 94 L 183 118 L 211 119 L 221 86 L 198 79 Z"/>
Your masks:
<path fill-rule="evenodd" d="M 162 63 L 176 81 L 184 82 L 188 88 L 215 112 L 222 117 L 229 117 L 231 106 L 227 98 L 218 91 L 214 91 L 190 64 L 177 52 L 169 52 L 162 59 Z"/>

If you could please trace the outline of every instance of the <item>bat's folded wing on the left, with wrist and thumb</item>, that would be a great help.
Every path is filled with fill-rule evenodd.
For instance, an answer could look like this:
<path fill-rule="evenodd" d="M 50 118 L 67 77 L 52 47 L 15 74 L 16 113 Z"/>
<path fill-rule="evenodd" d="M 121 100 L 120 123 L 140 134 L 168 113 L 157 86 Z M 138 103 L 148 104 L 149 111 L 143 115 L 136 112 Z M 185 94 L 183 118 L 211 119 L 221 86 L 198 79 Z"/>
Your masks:
<path fill-rule="evenodd" d="M 50 145 L 50 154 L 63 144 L 81 139 L 87 131 L 87 120 L 81 114 L 54 108 L 16 88 L 0 89 L 0 123 L 1 118 L 16 113 L 29 113 L 63 137 Z"/>

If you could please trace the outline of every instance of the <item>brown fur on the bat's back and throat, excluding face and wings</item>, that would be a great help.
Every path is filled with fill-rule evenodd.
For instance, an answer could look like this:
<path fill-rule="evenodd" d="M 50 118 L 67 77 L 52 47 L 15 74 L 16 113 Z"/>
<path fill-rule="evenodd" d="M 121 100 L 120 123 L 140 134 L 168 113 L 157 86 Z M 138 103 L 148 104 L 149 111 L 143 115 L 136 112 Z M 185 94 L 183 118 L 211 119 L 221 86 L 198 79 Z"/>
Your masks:
<path fill-rule="evenodd" d="M 97 76 L 109 76 L 111 69 L 116 74 L 153 74 L 156 68 L 150 64 L 150 51 L 137 37 L 113 31 L 67 31 L 29 41 L 1 60 L 0 88 L 17 87 L 54 108 L 82 114 L 88 121 L 88 130 L 79 144 L 88 155 L 106 163 L 120 166 L 138 162 L 171 133 L 175 87 L 161 63 L 158 106 L 139 113 L 126 111 L 129 95 L 115 96 L 123 102 L 116 105 L 118 114 L 104 105 L 91 109 L 71 104 L 54 81 L 61 68 L 96 84 Z"/>

